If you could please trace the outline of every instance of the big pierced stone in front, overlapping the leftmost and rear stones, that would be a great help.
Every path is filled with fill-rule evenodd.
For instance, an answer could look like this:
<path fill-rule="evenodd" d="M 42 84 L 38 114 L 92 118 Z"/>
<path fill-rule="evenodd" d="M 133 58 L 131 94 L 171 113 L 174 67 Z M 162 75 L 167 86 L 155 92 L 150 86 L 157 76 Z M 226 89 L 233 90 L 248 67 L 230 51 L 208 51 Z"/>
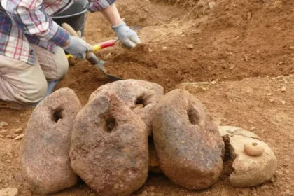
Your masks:
<path fill-rule="evenodd" d="M 78 113 L 70 158 L 99 195 L 130 195 L 148 176 L 146 126 L 115 93 L 97 94 Z"/>

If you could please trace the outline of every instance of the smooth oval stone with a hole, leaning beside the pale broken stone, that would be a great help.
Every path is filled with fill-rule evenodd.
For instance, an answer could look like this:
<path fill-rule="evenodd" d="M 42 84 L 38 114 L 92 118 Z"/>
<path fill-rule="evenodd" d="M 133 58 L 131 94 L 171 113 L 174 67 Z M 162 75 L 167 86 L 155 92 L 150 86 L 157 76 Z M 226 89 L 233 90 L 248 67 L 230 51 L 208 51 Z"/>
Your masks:
<path fill-rule="evenodd" d="M 205 106 L 185 90 L 163 97 L 153 116 L 153 139 L 163 172 L 192 190 L 214 184 L 225 145 Z"/>

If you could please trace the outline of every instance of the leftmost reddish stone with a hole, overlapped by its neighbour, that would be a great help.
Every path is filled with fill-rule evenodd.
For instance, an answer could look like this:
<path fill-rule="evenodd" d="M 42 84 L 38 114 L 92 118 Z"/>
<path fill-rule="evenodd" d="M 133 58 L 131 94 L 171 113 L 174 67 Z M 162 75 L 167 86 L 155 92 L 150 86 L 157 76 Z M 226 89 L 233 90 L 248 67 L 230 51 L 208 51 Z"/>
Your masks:
<path fill-rule="evenodd" d="M 69 150 L 73 121 L 81 108 L 73 90 L 62 88 L 31 113 L 22 143 L 21 167 L 34 193 L 47 195 L 77 183 Z"/>

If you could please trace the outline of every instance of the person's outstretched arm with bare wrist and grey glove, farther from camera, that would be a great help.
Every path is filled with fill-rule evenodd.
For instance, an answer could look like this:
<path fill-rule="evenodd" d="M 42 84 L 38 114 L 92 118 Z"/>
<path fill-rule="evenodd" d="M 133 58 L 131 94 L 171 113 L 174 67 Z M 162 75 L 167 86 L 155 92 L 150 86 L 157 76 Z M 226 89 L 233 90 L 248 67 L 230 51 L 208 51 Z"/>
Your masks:
<path fill-rule="evenodd" d="M 141 43 L 137 33 L 130 29 L 125 22 L 120 18 L 120 13 L 116 8 L 115 0 L 91 0 L 87 4 L 87 9 L 90 12 L 101 11 L 104 17 L 111 23 L 112 29 L 116 31 L 116 35 L 120 42 L 130 48 L 134 48 Z"/>

